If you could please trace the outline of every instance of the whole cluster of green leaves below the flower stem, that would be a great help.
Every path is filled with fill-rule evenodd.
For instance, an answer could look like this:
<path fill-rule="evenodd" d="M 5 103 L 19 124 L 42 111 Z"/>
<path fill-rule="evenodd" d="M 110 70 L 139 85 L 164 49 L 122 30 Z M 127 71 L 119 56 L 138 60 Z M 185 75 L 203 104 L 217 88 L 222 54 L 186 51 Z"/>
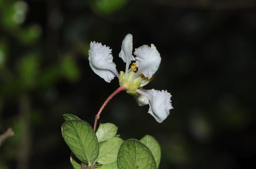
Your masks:
<path fill-rule="evenodd" d="M 145 135 L 140 140 L 123 141 L 112 123 L 92 126 L 75 115 L 64 114 L 62 136 L 71 149 L 70 162 L 75 169 L 158 168 L 161 149 L 156 139 Z"/>

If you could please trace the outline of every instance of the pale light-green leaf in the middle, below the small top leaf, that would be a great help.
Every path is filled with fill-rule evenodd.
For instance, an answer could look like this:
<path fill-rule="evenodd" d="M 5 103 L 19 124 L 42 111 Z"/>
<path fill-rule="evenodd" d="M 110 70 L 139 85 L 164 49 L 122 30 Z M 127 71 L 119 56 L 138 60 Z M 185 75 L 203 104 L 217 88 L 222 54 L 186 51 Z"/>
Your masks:
<path fill-rule="evenodd" d="M 102 164 L 116 162 L 118 150 L 122 143 L 123 139 L 119 137 L 113 137 L 107 141 L 101 142 L 99 156 L 96 161 Z"/>

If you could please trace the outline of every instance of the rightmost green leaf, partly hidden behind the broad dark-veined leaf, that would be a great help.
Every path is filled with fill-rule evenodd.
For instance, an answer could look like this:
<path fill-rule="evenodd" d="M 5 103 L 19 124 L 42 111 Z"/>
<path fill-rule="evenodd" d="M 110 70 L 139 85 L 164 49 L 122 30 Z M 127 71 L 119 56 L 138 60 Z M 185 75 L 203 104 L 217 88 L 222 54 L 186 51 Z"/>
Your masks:
<path fill-rule="evenodd" d="M 140 142 L 150 149 L 155 159 L 156 168 L 158 168 L 161 159 L 161 148 L 157 140 L 151 135 L 145 135 L 140 139 Z"/>

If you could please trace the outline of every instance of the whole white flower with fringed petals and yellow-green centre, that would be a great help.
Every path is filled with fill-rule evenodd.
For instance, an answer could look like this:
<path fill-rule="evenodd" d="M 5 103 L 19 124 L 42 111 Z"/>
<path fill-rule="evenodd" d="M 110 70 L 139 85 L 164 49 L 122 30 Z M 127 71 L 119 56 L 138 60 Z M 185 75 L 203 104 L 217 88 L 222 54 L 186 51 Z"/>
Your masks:
<path fill-rule="evenodd" d="M 156 47 L 143 45 L 135 49 L 132 55 L 132 35 L 127 34 L 122 42 L 119 57 L 126 63 L 125 72 L 120 74 L 116 70 L 113 62 L 111 49 L 101 43 L 91 42 L 89 50 L 89 64 L 93 71 L 110 83 L 115 76 L 119 78 L 119 84 L 127 93 L 134 95 L 140 106 L 149 104 L 148 113 L 155 120 L 161 123 L 169 115 L 169 110 L 173 109 L 170 93 L 164 90 L 145 90 L 143 86 L 153 80 L 153 74 L 159 68 L 161 57 Z M 131 61 L 135 61 L 131 64 Z M 129 66 L 131 64 L 131 68 Z"/>

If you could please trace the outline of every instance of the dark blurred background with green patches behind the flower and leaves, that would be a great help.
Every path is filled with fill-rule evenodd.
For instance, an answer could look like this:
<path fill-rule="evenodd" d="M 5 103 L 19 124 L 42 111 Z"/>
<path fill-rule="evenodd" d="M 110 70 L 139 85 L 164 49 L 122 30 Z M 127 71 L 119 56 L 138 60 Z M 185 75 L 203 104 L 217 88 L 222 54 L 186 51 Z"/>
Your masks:
<path fill-rule="evenodd" d="M 255 160 L 256 10 L 254 1 L 0 1 L 0 168 L 71 168 L 62 114 L 94 123 L 119 87 L 90 68 L 91 41 L 118 57 L 126 34 L 133 47 L 153 43 L 162 61 L 145 89 L 170 92 L 162 123 L 121 92 L 100 122 L 121 138 L 154 136 L 159 168 L 247 168 Z M 252 163 L 253 164 L 253 163 Z M 249 168 L 255 167 L 253 166 Z"/>

